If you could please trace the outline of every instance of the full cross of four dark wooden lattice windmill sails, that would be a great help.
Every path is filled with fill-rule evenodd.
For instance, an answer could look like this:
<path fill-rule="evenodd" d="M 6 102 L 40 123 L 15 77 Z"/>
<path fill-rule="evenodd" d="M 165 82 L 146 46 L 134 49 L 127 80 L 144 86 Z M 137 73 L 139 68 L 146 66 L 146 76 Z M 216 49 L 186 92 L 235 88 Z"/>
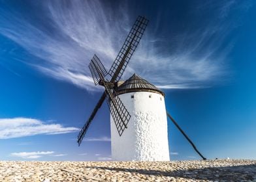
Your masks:
<path fill-rule="evenodd" d="M 82 127 L 78 135 L 77 142 L 79 146 L 84 138 L 84 135 L 86 135 L 86 131 L 97 113 L 97 110 L 99 110 L 103 104 L 106 96 L 108 107 L 114 122 L 116 123 L 116 128 L 118 129 L 119 135 L 121 136 L 124 129 L 127 128 L 127 123 L 129 122 L 131 115 L 121 102 L 121 99 L 116 96 L 114 91 L 114 83 L 119 81 L 121 75 L 123 75 L 123 72 L 138 45 L 138 42 L 140 42 L 140 39 L 142 38 L 142 34 L 144 33 L 147 24 L 148 19 L 138 16 L 109 72 L 106 72 L 101 60 L 99 60 L 96 55 L 94 55 L 91 59 L 91 62 L 89 63 L 89 70 L 93 77 L 93 81 L 95 85 L 99 84 L 104 86 L 105 92 L 101 96 L 101 99 L 99 99 L 97 105 L 91 113 L 91 116 L 89 116 L 89 119 L 85 123 L 84 127 Z M 109 82 L 104 80 L 107 74 L 112 77 Z"/>

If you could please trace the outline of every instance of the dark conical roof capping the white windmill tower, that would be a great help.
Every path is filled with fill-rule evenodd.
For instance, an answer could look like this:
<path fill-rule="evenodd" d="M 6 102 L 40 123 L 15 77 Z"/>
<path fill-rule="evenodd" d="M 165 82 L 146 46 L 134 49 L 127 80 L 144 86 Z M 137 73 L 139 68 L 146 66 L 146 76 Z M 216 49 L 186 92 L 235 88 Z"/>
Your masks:
<path fill-rule="evenodd" d="M 127 81 L 125 81 L 123 84 L 118 86 L 116 92 L 118 94 L 125 94 L 128 92 L 157 92 L 163 96 L 165 95 L 161 90 L 159 90 L 159 88 L 149 83 L 145 79 L 142 79 L 142 77 L 136 75 L 136 73 L 127 79 Z"/>

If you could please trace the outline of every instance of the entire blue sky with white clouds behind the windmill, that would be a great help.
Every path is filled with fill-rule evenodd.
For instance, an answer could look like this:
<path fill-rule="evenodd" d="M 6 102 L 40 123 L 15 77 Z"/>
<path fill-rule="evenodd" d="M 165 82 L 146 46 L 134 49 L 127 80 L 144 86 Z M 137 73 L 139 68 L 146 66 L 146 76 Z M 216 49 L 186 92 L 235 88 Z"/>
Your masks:
<path fill-rule="evenodd" d="M 111 160 L 106 103 L 89 73 L 110 68 L 138 15 L 150 23 L 123 75 L 161 88 L 209 159 L 256 159 L 253 1 L 0 1 L 0 160 Z M 170 157 L 200 159 L 168 121 Z"/>

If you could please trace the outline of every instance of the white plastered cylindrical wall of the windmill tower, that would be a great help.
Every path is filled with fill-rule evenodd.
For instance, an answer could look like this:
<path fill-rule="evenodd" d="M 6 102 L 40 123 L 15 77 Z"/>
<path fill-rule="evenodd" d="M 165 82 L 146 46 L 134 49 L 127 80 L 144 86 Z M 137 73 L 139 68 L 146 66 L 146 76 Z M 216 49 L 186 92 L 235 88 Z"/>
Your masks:
<path fill-rule="evenodd" d="M 112 159 L 170 161 L 164 97 L 153 92 L 130 92 L 119 97 L 131 119 L 120 136 L 110 116 Z"/>

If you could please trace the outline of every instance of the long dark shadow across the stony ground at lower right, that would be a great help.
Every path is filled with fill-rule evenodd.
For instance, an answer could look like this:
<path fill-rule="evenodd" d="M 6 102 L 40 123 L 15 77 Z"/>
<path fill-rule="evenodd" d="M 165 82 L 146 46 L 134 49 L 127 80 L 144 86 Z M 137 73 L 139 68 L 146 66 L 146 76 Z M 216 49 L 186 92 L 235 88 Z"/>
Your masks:
<path fill-rule="evenodd" d="M 131 174 L 184 177 L 197 180 L 224 180 L 224 181 L 256 181 L 256 164 L 242 166 L 208 167 L 192 170 L 142 170 L 131 168 L 110 168 L 89 166 L 89 168 L 113 170 L 116 172 L 131 172 Z"/>

